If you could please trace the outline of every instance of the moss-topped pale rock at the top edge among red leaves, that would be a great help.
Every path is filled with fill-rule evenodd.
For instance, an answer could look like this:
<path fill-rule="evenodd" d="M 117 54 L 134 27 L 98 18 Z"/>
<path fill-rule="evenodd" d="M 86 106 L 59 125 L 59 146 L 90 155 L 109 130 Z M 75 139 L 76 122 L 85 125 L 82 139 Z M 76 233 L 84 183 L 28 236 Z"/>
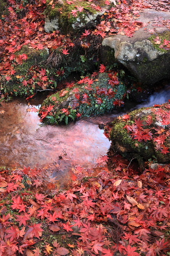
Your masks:
<path fill-rule="evenodd" d="M 100 7 L 105 6 L 105 1 L 99 0 L 97 5 Z M 65 0 L 58 1 L 53 7 L 49 4 L 50 0 L 47 0 L 47 7 L 45 10 L 46 23 L 45 30 L 47 32 L 53 30 L 60 30 L 62 33 L 75 33 L 82 28 L 93 27 L 98 18 L 105 12 L 96 11 L 87 1 L 74 1 L 71 4 L 67 4 Z M 82 11 L 77 11 L 77 17 L 72 15 L 72 10 L 78 10 L 83 7 Z"/>

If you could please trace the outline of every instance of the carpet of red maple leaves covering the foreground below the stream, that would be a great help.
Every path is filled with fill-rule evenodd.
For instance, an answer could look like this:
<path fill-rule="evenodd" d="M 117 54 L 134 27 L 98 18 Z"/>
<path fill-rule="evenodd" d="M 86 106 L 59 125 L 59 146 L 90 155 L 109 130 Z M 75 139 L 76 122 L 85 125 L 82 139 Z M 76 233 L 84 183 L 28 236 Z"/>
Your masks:
<path fill-rule="evenodd" d="M 115 159 L 68 190 L 38 169 L 2 170 L 0 255 L 169 255 L 170 166 L 139 173 Z"/>

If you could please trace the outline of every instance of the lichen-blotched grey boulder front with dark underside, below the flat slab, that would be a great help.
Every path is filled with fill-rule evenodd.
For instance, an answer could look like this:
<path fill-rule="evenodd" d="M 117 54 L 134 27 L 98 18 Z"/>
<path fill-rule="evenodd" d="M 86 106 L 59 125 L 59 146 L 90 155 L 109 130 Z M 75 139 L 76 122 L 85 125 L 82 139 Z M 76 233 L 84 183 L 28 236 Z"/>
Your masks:
<path fill-rule="evenodd" d="M 170 77 L 169 47 L 167 50 L 159 47 L 160 44 L 163 45 L 164 39 L 169 41 L 170 31 L 148 38 L 141 38 L 143 34 L 141 31 L 141 34 L 134 34 L 132 38 L 122 35 L 106 37 L 103 39 L 101 52 L 105 65 L 121 63 L 138 82 L 151 87 L 156 82 Z M 160 44 L 156 44 L 156 37 L 159 37 Z"/>

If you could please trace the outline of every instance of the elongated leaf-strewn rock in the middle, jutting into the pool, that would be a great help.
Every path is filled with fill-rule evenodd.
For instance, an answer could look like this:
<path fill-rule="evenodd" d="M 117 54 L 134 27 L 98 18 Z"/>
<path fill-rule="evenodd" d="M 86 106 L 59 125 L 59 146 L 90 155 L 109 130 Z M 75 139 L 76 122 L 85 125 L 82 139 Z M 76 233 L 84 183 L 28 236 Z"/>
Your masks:
<path fill-rule="evenodd" d="M 74 86 L 50 95 L 43 102 L 40 115 L 47 123 L 65 121 L 67 124 L 80 115 L 104 114 L 124 103 L 125 92 L 125 85 L 118 81 L 115 74 L 100 73 L 94 79 L 85 77 Z"/>

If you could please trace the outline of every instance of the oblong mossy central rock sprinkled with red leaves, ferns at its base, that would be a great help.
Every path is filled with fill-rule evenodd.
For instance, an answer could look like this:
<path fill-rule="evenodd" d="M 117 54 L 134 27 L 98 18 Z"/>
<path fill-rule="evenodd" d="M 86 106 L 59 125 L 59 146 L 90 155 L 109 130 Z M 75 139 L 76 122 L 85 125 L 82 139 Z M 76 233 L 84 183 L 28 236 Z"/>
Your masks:
<path fill-rule="evenodd" d="M 111 112 L 115 108 L 113 102 L 116 100 L 121 101 L 125 97 L 126 87 L 121 82 L 112 86 L 108 81 L 108 73 L 101 73 L 94 79 L 91 87 L 87 83 L 75 83 L 74 87 L 66 88 L 63 92 L 50 95 L 43 102 L 40 113 L 49 106 L 54 106 L 54 108 L 50 116 L 44 118 L 44 121 L 49 123 L 49 119 L 53 117 L 54 119 L 56 118 L 54 123 L 57 123 L 57 118 L 63 114 L 62 109 L 64 108 L 74 110 L 76 113 L 86 117 Z M 107 94 L 108 92 L 110 94 Z"/>

